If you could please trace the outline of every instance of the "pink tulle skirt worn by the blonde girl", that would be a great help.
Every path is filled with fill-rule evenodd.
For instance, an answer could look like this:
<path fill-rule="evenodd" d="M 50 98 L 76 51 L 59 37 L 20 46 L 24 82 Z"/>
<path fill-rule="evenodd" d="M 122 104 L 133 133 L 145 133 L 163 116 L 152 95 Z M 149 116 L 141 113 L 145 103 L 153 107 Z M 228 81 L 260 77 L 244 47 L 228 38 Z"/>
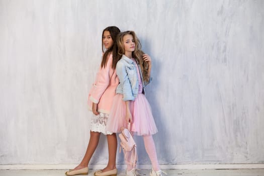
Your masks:
<path fill-rule="evenodd" d="M 110 132 L 120 133 L 121 127 L 127 128 L 125 120 L 126 104 L 122 100 L 123 95 L 114 97 L 112 109 L 109 114 L 106 129 Z M 151 107 L 144 94 L 138 94 L 135 101 L 130 101 L 130 112 L 133 123 L 130 130 L 135 135 L 152 135 L 157 132 L 157 127 L 152 116 Z"/>

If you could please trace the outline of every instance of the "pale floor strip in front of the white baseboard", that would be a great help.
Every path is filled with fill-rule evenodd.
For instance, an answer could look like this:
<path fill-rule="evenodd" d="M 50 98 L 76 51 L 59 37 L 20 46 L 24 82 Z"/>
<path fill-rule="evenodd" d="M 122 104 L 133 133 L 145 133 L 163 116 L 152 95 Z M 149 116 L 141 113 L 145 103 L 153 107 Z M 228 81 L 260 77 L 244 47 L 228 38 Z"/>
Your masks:
<path fill-rule="evenodd" d="M 64 175 L 66 170 L 0 170 L 1 176 L 58 176 Z M 95 170 L 89 170 L 94 175 Z M 149 169 L 138 170 L 140 175 L 149 175 Z M 264 169 L 166 169 L 167 175 L 178 176 L 264 176 Z M 119 170 L 118 176 L 125 176 L 125 170 Z"/>

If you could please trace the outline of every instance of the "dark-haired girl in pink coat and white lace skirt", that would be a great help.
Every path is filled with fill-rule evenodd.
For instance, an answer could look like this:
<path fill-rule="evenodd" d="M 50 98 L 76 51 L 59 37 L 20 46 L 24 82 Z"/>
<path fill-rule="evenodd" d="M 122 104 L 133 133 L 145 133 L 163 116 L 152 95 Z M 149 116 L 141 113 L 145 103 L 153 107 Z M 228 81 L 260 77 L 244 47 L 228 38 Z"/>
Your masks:
<path fill-rule="evenodd" d="M 116 37 L 119 33 L 120 30 L 115 26 L 107 27 L 103 31 L 103 58 L 88 98 L 89 108 L 94 114 L 91 120 L 89 144 L 80 164 L 74 169 L 66 171 L 66 175 L 88 174 L 88 164 L 98 146 L 101 133 L 107 135 L 109 160 L 107 166 L 102 170 L 96 171 L 95 175 L 107 176 L 117 174 L 117 137 L 116 133 L 106 130 L 106 124 L 108 123 L 108 115 L 116 94 L 116 87 L 119 83 L 115 70 L 118 61 Z"/>

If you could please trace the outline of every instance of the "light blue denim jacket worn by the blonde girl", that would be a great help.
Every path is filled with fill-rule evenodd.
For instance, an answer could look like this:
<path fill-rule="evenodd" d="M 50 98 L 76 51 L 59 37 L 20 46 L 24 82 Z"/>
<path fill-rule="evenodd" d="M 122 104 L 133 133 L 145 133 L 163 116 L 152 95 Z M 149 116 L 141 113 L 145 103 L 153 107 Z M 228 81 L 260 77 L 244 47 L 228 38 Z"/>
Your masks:
<path fill-rule="evenodd" d="M 138 65 L 141 80 L 142 71 Z M 138 95 L 138 74 L 135 62 L 127 56 L 123 55 L 122 58 L 117 62 L 116 66 L 117 76 L 119 78 L 119 85 L 117 86 L 116 93 L 123 95 L 123 101 L 134 101 Z M 149 83 L 142 81 L 143 83 L 143 94 L 145 94 L 145 86 Z"/>

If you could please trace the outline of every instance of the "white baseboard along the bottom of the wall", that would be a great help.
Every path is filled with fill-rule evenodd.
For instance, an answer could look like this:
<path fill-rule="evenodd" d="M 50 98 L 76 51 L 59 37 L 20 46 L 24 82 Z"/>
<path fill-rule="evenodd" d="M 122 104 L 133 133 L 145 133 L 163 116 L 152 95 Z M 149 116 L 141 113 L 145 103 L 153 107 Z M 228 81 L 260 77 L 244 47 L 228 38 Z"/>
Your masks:
<path fill-rule="evenodd" d="M 77 164 L 7 164 L 0 165 L 0 170 L 5 169 L 71 169 Z M 89 165 L 91 169 L 104 168 L 106 164 Z M 124 164 L 117 164 L 118 169 L 125 169 Z M 139 169 L 150 169 L 151 165 L 137 165 Z M 168 164 L 160 165 L 161 169 L 264 169 L 263 164 Z"/>

